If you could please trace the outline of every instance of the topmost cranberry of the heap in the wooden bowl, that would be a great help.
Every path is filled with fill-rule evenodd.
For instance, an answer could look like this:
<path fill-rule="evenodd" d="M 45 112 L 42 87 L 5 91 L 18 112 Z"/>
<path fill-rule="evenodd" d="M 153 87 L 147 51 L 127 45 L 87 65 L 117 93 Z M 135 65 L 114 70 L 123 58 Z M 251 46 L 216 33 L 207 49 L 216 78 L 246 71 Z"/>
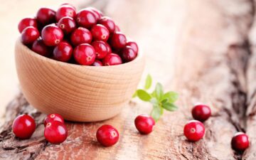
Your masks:
<path fill-rule="evenodd" d="M 56 11 L 56 20 L 59 21 L 61 18 L 69 16 L 71 18 L 75 18 L 76 13 L 73 6 L 70 5 L 62 5 L 60 8 Z"/>

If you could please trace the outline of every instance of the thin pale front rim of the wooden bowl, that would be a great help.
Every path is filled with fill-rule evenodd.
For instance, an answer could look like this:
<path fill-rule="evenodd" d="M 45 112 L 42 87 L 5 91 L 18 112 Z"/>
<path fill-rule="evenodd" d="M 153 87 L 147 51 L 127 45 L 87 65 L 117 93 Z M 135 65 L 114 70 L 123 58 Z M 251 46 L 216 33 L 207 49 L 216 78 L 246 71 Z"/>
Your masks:
<path fill-rule="evenodd" d="M 68 67 L 68 66 L 71 67 L 72 66 L 74 68 L 90 68 L 90 69 L 92 69 L 92 68 L 97 68 L 97 69 L 100 69 L 100 68 L 109 68 L 109 69 L 110 68 L 121 68 L 121 67 L 127 67 L 129 65 L 137 63 L 137 61 L 144 58 L 144 54 L 142 53 L 142 51 L 140 51 L 137 55 L 137 58 L 135 58 L 134 60 L 132 60 L 128 63 L 122 63 L 120 65 L 103 65 L 103 66 L 79 65 L 79 64 L 66 63 L 66 62 L 61 62 L 61 61 L 58 61 L 58 60 L 53 60 L 51 58 L 47 58 L 43 55 L 40 55 L 40 54 L 34 52 L 33 50 L 31 50 L 30 48 L 28 48 L 27 46 L 23 45 L 23 43 L 21 43 L 21 36 L 17 39 L 16 45 L 21 46 L 21 48 L 23 48 L 23 50 L 26 50 L 26 53 L 28 53 L 29 55 L 31 55 L 35 58 L 48 61 L 49 63 L 55 63 L 57 65 L 65 65 L 66 67 Z"/>

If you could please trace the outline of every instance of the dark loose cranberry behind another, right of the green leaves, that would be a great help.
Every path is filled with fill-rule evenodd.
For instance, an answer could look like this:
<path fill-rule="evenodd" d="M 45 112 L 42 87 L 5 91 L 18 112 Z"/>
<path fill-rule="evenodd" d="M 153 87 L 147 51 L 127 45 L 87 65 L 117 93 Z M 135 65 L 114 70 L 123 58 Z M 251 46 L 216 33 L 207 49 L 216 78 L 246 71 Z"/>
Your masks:
<path fill-rule="evenodd" d="M 210 117 L 210 107 L 207 105 L 195 105 L 192 109 L 193 118 L 204 122 Z"/>

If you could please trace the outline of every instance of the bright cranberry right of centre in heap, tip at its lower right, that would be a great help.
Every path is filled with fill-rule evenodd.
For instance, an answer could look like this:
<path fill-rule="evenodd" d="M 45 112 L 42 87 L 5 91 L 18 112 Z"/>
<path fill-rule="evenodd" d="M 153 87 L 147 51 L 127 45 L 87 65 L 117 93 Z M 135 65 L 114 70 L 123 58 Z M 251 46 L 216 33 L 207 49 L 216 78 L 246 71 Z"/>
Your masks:
<path fill-rule="evenodd" d="M 94 40 L 99 41 L 107 41 L 107 39 L 110 37 L 110 32 L 107 30 L 107 28 L 101 24 L 96 24 L 92 26 L 91 29 L 92 37 Z"/>

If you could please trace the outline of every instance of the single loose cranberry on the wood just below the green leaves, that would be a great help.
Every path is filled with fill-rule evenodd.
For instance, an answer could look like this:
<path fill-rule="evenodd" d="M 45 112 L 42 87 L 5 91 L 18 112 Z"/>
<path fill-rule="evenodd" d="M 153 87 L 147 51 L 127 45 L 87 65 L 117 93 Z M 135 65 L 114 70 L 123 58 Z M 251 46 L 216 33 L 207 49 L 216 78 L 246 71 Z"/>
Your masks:
<path fill-rule="evenodd" d="M 151 116 L 142 114 L 136 117 L 134 124 L 141 134 L 149 134 L 153 131 L 156 123 Z"/>

